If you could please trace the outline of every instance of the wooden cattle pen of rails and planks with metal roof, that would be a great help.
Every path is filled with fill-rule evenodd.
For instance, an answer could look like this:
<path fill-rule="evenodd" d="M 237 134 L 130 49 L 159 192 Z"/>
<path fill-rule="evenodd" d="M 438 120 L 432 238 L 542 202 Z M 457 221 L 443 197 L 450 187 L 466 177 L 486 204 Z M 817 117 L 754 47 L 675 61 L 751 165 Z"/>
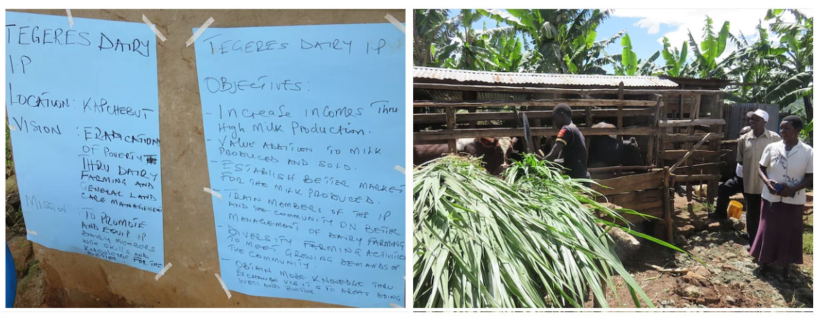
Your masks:
<path fill-rule="evenodd" d="M 542 148 L 543 141 L 553 142 L 557 136 L 552 108 L 566 103 L 587 147 L 595 136 L 635 137 L 643 166 L 590 168 L 593 179 L 611 187 L 595 190 L 610 204 L 663 219 L 654 223 L 655 234 L 671 240 L 675 182 L 687 185 L 688 195 L 691 185 L 707 184 L 708 201 L 717 193 L 718 159 L 726 153 L 720 149 L 722 99 L 720 89 L 686 89 L 654 76 L 414 67 L 414 144 L 447 142 L 450 151 L 456 151 L 458 138 L 523 137 L 524 114 L 532 148 Z M 614 128 L 592 127 L 598 122 Z M 526 149 L 528 144 L 517 150 Z"/>

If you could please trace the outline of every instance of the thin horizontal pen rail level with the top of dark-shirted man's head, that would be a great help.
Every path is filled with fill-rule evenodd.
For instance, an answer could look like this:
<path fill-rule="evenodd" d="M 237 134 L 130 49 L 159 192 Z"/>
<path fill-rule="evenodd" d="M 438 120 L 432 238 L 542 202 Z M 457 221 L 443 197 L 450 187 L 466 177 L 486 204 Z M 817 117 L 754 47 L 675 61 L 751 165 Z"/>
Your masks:
<path fill-rule="evenodd" d="M 620 99 L 593 99 L 593 98 L 554 98 L 554 99 L 537 99 L 537 100 L 476 100 L 476 101 L 433 101 L 433 100 L 419 100 L 414 101 L 414 108 L 433 107 L 457 107 L 457 108 L 471 108 L 471 107 L 554 107 L 558 103 L 566 103 L 569 107 L 653 107 L 655 102 L 652 100 L 620 100 Z"/>

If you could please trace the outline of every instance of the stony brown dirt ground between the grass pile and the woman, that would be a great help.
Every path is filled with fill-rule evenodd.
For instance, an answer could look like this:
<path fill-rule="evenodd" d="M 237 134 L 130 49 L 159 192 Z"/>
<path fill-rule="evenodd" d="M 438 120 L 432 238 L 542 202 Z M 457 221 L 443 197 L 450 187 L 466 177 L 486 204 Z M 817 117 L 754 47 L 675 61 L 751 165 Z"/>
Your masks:
<path fill-rule="evenodd" d="M 676 206 L 680 205 L 676 201 Z M 686 203 L 682 205 L 686 206 Z M 703 222 L 700 228 L 684 233 L 686 239 L 681 242 L 686 244 L 681 247 L 702 262 L 654 243 L 643 243 L 637 255 L 624 262 L 655 307 L 813 307 L 812 254 L 805 253 L 804 264 L 791 265 L 790 277 L 786 280 L 782 278 L 780 268 L 762 276 L 756 271 L 758 265 L 753 262 L 753 257 L 748 254 L 743 229 L 715 228 L 715 225 L 709 228 L 705 211 L 696 211 L 695 214 L 697 217 L 691 217 L 685 209 L 677 214 L 686 217 L 690 223 Z M 661 272 L 648 265 L 683 268 L 687 272 Z M 618 276 L 615 276 L 615 285 L 622 286 Z M 619 298 L 609 295 L 609 305 L 633 307 L 628 292 L 624 288 L 618 289 Z"/>

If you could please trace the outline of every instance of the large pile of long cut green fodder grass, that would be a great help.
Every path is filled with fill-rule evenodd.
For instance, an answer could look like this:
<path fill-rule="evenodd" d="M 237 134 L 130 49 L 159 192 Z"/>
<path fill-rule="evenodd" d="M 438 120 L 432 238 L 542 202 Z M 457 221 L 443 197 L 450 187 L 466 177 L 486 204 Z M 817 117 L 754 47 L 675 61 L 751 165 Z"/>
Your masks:
<path fill-rule="evenodd" d="M 638 307 L 652 302 L 614 254 L 615 210 L 582 181 L 533 156 L 514 162 L 504 180 L 479 159 L 445 156 L 414 171 L 414 307 L 608 307 L 601 284 L 618 296 L 621 276 Z M 631 210 L 624 210 L 637 214 Z M 603 224 L 601 226 L 600 224 Z M 673 247 L 674 248 L 674 247 Z"/>

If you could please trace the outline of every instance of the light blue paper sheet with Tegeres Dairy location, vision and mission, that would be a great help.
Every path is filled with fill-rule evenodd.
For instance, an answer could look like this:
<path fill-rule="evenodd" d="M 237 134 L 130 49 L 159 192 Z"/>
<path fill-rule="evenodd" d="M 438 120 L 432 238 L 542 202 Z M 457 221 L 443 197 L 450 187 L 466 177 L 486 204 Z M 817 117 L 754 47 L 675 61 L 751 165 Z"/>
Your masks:
<path fill-rule="evenodd" d="M 6 105 L 27 238 L 164 267 L 155 34 L 6 12 Z"/>

